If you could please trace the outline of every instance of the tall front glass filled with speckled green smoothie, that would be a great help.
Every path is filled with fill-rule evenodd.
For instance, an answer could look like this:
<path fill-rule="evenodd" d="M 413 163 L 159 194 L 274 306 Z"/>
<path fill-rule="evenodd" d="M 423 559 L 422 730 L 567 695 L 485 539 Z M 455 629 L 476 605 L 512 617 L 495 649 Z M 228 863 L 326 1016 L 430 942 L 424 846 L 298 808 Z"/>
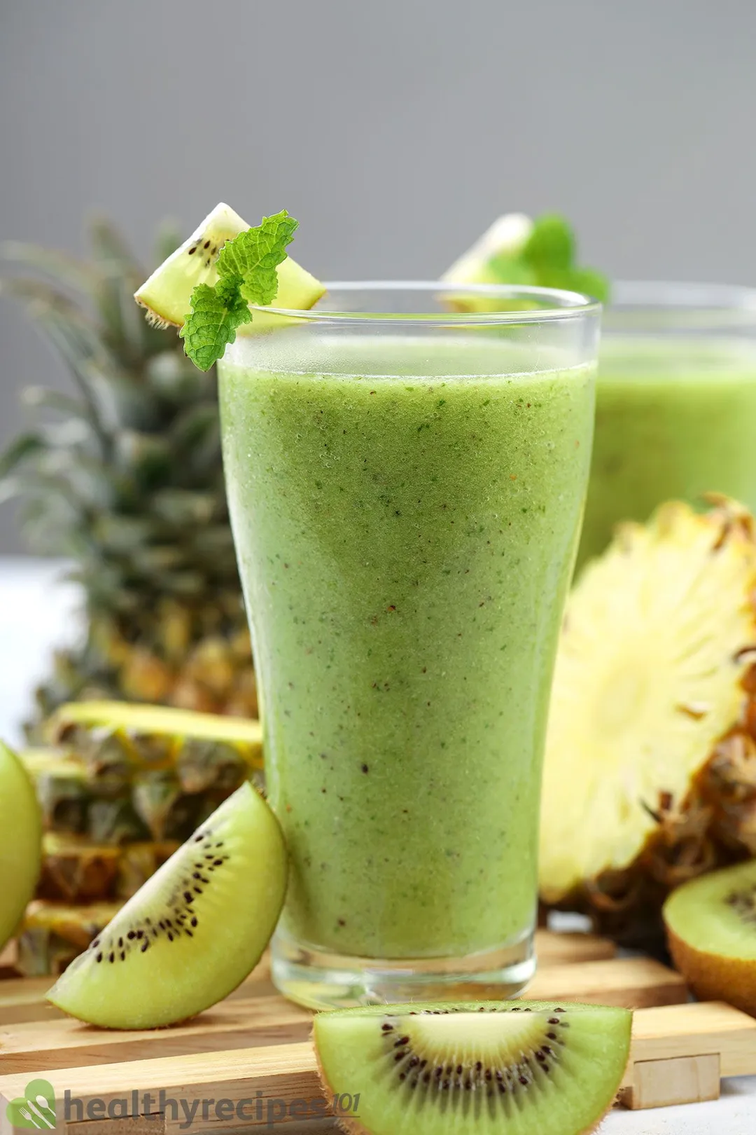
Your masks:
<path fill-rule="evenodd" d="M 265 309 L 270 329 L 220 365 L 291 859 L 274 980 L 314 1007 L 513 993 L 535 965 L 544 725 L 600 306 L 440 284 L 328 296 L 333 310 Z"/>

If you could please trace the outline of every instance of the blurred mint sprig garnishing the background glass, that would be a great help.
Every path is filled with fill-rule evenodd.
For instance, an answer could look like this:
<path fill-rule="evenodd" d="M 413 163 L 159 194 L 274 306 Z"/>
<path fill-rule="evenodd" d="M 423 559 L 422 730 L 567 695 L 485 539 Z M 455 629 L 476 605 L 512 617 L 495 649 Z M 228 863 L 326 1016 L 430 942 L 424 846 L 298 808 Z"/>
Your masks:
<path fill-rule="evenodd" d="M 595 268 L 584 268 L 576 259 L 572 226 L 558 213 L 545 213 L 533 222 L 521 249 L 492 257 L 487 267 L 499 284 L 566 288 L 605 302 L 610 292 L 608 277 Z"/>

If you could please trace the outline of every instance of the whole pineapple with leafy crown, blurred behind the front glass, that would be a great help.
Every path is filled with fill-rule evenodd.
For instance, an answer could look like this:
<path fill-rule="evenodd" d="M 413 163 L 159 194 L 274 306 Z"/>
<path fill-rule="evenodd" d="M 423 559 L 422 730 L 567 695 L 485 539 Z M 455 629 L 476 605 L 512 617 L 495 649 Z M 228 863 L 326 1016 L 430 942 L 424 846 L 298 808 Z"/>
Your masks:
<path fill-rule="evenodd" d="M 6 277 L 62 355 L 76 394 L 33 388 L 39 423 L 0 459 L 29 544 L 73 561 L 86 634 L 36 692 L 44 720 L 71 699 L 117 698 L 256 716 L 252 654 L 229 528 L 215 375 L 134 303 L 144 270 L 105 220 L 92 260 L 12 244 Z M 159 260 L 178 241 L 167 236 Z M 42 420 L 44 419 L 44 420 Z"/>

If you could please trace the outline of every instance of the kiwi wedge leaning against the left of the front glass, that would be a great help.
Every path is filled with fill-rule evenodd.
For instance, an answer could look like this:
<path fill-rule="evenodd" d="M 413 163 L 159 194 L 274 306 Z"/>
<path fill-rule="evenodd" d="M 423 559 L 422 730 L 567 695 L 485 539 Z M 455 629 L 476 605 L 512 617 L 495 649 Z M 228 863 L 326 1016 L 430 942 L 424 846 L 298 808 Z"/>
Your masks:
<path fill-rule="evenodd" d="M 260 960 L 287 866 L 278 821 L 243 784 L 121 907 L 49 1000 L 103 1028 L 154 1028 L 201 1012 Z"/>

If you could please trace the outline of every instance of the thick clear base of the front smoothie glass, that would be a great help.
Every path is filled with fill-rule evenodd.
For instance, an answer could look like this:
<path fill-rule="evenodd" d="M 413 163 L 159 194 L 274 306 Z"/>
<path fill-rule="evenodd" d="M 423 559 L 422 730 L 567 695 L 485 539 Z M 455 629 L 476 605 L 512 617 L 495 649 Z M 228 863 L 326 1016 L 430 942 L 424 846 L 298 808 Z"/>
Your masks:
<path fill-rule="evenodd" d="M 308 1009 L 348 1009 L 402 1001 L 503 1001 L 518 997 L 535 973 L 534 936 L 464 958 L 348 957 L 273 939 L 277 989 Z"/>

